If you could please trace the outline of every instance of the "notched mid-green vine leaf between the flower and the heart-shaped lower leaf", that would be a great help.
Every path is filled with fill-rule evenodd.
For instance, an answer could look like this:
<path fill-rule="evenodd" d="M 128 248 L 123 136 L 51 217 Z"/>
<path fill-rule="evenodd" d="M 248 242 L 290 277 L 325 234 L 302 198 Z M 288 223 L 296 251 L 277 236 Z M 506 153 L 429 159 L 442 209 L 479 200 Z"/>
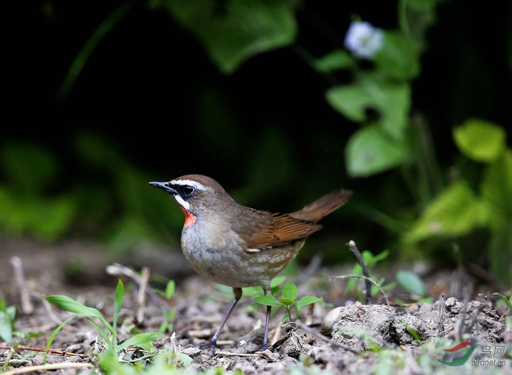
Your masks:
<path fill-rule="evenodd" d="M 382 130 L 393 139 L 403 138 L 411 107 L 411 88 L 407 82 L 391 81 L 379 73 L 364 73 L 351 85 L 329 89 L 326 98 L 336 111 L 356 122 L 368 120 L 368 109 L 377 111 Z"/>

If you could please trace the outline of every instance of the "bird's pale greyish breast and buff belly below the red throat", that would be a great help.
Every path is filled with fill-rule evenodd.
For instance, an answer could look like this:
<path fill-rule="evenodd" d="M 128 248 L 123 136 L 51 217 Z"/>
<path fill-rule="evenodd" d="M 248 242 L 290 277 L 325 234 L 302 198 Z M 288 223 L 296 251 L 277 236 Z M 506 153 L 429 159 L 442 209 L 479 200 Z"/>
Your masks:
<path fill-rule="evenodd" d="M 233 232 L 208 241 L 210 236 L 197 237 L 195 231 L 183 230 L 181 248 L 187 263 L 208 280 L 231 287 L 262 286 L 279 274 L 297 255 L 304 240 L 288 246 L 246 252 L 245 242 Z M 221 246 L 213 246 L 216 242 Z"/>

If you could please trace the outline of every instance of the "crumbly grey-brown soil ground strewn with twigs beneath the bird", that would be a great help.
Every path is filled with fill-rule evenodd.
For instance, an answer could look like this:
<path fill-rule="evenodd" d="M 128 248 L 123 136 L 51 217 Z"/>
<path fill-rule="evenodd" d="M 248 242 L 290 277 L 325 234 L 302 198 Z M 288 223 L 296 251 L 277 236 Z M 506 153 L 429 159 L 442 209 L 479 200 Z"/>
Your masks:
<path fill-rule="evenodd" d="M 18 257 L 23 264 L 26 279 L 26 290 L 33 310 L 23 312 L 19 286 L 11 264 L 12 257 Z M 69 242 L 59 245 L 41 245 L 29 240 L 0 239 L 0 294 L 6 297 L 7 305 L 16 305 L 18 317 L 15 329 L 20 332 L 39 332 L 40 336 L 22 342 L 22 345 L 45 348 L 53 329 L 63 320 L 71 316 L 48 304 L 44 296 L 66 295 L 88 306 L 96 307 L 110 321 L 113 314 L 113 299 L 117 277 L 109 276 L 105 267 L 110 262 L 105 259 L 104 252 L 96 245 L 86 242 Z M 496 309 L 492 301 L 478 294 L 490 296 L 498 286 L 482 283 L 462 270 L 434 271 L 425 265 L 416 265 L 416 272 L 423 275 L 428 285 L 429 295 L 446 295 L 444 309 L 444 329 L 442 338 L 438 336 L 439 300 L 432 303 L 408 303 L 407 305 L 385 306 L 382 296 L 375 296 L 374 305 L 342 307 L 342 315 L 335 314 L 332 336 L 338 344 L 328 343 L 315 333 L 322 330 L 322 321 L 328 311 L 336 306 L 349 304 L 350 295 L 346 293 L 346 281 L 330 280 L 329 276 L 349 274 L 352 266 L 327 269 L 311 266 L 305 268 L 300 276 L 289 278 L 297 285 L 298 296 L 314 295 L 321 297 L 324 304 L 316 303 L 314 308 L 302 308 L 305 326 L 289 332 L 289 328 L 281 328 L 280 321 L 284 313 L 281 311 L 272 318 L 270 337 L 273 341 L 285 336 L 288 339 L 273 351 L 264 355 L 253 355 L 257 351 L 263 336 L 264 307 L 255 305 L 251 298 L 243 297 L 233 311 L 224 331 L 220 336 L 215 356 L 207 348 L 190 349 L 191 346 L 205 343 L 221 321 L 232 295 L 215 284 L 197 276 L 184 263 L 179 252 L 162 251 L 154 246 L 142 246 L 134 251 L 132 257 L 116 259 L 118 263 L 139 269 L 148 266 L 152 275 L 173 278 L 176 281 L 178 295 L 169 302 L 157 294 L 148 293 L 142 322 L 137 322 L 140 331 L 157 331 L 164 321 L 162 308 L 176 309 L 173 318 L 175 343 L 178 350 L 183 350 L 193 360 L 184 373 L 194 373 L 214 367 L 223 367 L 227 371 L 242 370 L 243 373 L 453 373 L 455 367 L 435 361 L 442 358 L 446 362 L 461 357 L 459 351 L 444 353 L 441 348 L 455 346 L 461 341 L 479 344 L 472 359 L 486 359 L 484 345 L 492 350 L 505 346 L 505 355 L 493 357 L 503 360 L 501 365 L 475 366 L 464 364 L 466 373 L 508 373 L 512 374 L 509 358 L 512 346 L 510 331 L 503 324 L 504 311 Z M 387 269 L 386 273 L 391 270 Z M 375 270 L 374 274 L 378 274 Z M 393 274 L 387 276 L 393 279 Z M 129 279 L 123 279 L 126 297 L 120 311 L 119 340 L 128 339 L 130 330 L 135 326 L 138 312 L 137 286 Z M 162 284 L 156 284 L 163 288 Z M 362 285 L 362 284 L 361 284 Z M 362 287 L 362 286 L 361 286 Z M 227 289 L 229 290 L 229 289 Z M 407 294 L 395 288 L 388 298 L 394 301 L 400 298 L 408 301 Z M 471 301 L 471 299 L 475 299 Z M 461 301 L 466 300 L 468 303 Z M 471 302 L 470 302 L 471 301 Z M 328 307 L 328 304 L 330 305 Z M 372 315 L 373 314 L 373 315 Z M 354 318 L 355 317 L 355 318 Z M 368 319 L 369 318 L 369 319 Z M 463 324 L 460 322 L 463 321 Z M 418 337 L 411 336 L 406 325 L 414 327 Z M 359 331 L 355 335 L 343 330 L 345 325 L 362 324 L 367 335 Z M 329 328 L 329 327 L 328 327 Z M 74 319 L 63 328 L 51 348 L 67 353 L 89 355 L 86 358 L 52 354 L 48 363 L 94 362 L 97 331 L 82 318 Z M 163 339 L 155 341 L 155 347 L 168 347 L 171 340 L 168 332 Z M 453 341 L 449 341 L 452 339 Z M 418 343 L 421 343 L 419 345 Z M 6 343 L 0 342 L 5 348 L 0 349 L 0 365 L 11 356 L 8 371 L 30 369 L 30 366 L 42 364 L 43 355 L 32 350 L 18 350 L 12 356 Z M 350 349 L 344 349 L 344 345 Z M 447 346 L 451 345 L 451 346 Z M 383 350 L 372 350 L 382 347 Z M 489 349 L 490 350 L 490 349 Z M 477 351 L 479 353 L 477 353 Z M 508 352 L 508 353 L 507 353 Z M 238 353 L 239 355 L 236 355 Z M 494 355 L 494 353 L 493 353 Z M 400 363 L 400 366 L 396 366 Z M 76 374 L 89 373 L 96 368 L 65 368 L 47 373 Z M 12 372 L 15 373 L 15 372 Z M 39 373 L 37 371 L 32 373 Z M 40 372 L 43 373 L 43 372 Z"/>

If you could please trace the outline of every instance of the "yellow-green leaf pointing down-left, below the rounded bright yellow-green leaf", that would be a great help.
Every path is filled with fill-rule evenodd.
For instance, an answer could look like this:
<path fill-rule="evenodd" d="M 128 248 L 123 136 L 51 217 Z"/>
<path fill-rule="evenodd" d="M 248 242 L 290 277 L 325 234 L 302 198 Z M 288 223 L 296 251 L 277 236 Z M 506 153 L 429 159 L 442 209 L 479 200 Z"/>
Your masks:
<path fill-rule="evenodd" d="M 475 197 L 467 182 L 461 180 L 429 204 L 404 240 L 416 242 L 436 236 L 461 236 L 486 222 L 487 207 Z"/>

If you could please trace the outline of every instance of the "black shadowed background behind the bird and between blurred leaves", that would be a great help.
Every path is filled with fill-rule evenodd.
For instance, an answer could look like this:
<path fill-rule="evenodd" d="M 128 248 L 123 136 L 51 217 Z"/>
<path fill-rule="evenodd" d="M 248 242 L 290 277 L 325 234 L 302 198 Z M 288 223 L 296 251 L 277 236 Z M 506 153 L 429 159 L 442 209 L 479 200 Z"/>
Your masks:
<path fill-rule="evenodd" d="M 103 198 L 110 205 L 96 209 L 105 215 L 92 213 L 101 218 L 95 224 L 87 220 L 95 210 L 87 197 L 98 196 L 93 191 L 81 196 L 82 215 L 65 236 L 108 239 L 115 227 L 104 224 L 132 208 L 126 203 L 130 198 L 120 197 L 129 186 L 115 170 L 133 168 L 147 181 L 205 174 L 240 203 L 273 211 L 294 211 L 343 186 L 354 191 L 353 199 L 324 221 L 336 246 L 345 252 L 344 243 L 355 239 L 374 253 L 398 247 L 396 235 L 365 207 L 393 215 L 397 207 L 415 204 L 402 194 L 400 171 L 347 176 L 344 149 L 358 125 L 329 106 L 324 92 L 330 82 L 311 69 L 296 46 L 252 57 L 224 75 L 166 11 L 139 2 L 100 41 L 69 95 L 59 97 L 73 59 L 120 4 L 24 3 L 14 11 L 7 35 L 13 43 L 6 59 L 13 64 L 6 72 L 0 146 L 29 142 L 55 156 L 58 174 L 47 197 L 77 186 L 108 192 Z M 343 47 L 354 14 L 377 27 L 398 27 L 395 2 L 304 1 L 296 11 L 297 45 L 314 57 Z M 510 127 L 510 2 L 446 1 L 437 17 L 421 55 L 421 74 L 413 81 L 412 112 L 429 125 L 447 181 L 458 157 L 453 126 L 476 116 Z M 350 78 L 338 76 L 340 82 Z M 104 165 L 108 157 L 99 165 L 77 152 L 77 139 L 84 135 L 112 150 L 110 166 Z M 103 151 L 91 148 L 90 156 Z M 4 173 L 0 177 L 3 184 L 13 183 Z M 141 191 L 147 181 L 140 181 Z M 174 203 L 165 202 L 165 210 L 182 220 Z M 178 224 L 159 230 L 179 237 Z"/>

